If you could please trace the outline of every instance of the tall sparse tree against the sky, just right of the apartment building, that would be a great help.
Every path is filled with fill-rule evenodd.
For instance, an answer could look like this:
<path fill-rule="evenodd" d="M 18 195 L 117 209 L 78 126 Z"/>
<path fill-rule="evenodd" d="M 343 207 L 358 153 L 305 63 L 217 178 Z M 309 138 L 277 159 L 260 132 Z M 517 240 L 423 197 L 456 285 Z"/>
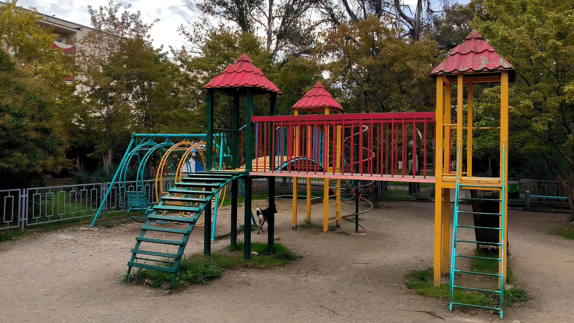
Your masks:
<path fill-rule="evenodd" d="M 80 40 L 77 68 L 83 106 L 76 111 L 76 124 L 96 129 L 100 137 L 94 140 L 96 157 L 119 155 L 135 125 L 131 120 L 131 92 L 119 71 L 125 71 L 126 47 L 130 40 L 150 45 L 152 24 L 141 20 L 141 14 L 120 12 L 121 4 L 110 1 L 94 9 L 88 6 L 94 30 Z M 156 21 L 154 21 L 156 22 Z M 133 90 L 133 89 L 131 89 Z"/>

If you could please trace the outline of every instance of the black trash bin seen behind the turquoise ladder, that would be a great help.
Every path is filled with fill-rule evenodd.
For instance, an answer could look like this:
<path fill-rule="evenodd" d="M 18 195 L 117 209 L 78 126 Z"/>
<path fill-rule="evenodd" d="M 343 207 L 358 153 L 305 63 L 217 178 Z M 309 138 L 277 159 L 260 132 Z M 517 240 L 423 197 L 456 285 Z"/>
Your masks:
<path fill-rule="evenodd" d="M 472 212 L 479 213 L 499 213 L 500 202 L 496 201 L 500 198 L 499 191 L 483 191 L 483 190 L 470 190 L 472 200 Z M 476 199 L 475 199 L 476 198 Z M 482 201 L 484 199 L 484 201 Z M 500 228 L 500 217 L 495 214 L 473 214 L 474 225 L 483 226 L 485 228 Z M 476 241 L 476 249 L 480 249 L 480 245 L 497 246 L 499 239 L 498 230 L 489 229 L 474 229 Z"/>

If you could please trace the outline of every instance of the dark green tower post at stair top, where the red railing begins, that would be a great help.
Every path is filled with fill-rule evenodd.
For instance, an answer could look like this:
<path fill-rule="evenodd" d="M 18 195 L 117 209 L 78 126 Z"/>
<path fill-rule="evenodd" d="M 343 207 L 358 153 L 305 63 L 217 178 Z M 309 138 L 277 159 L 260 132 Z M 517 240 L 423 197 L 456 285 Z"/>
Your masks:
<path fill-rule="evenodd" d="M 249 172 L 251 171 L 251 161 L 253 160 L 253 132 L 251 130 L 251 115 L 253 114 L 253 93 L 247 90 L 246 93 L 246 126 L 245 126 L 245 170 L 247 176 L 245 178 L 245 234 L 243 236 L 243 259 L 251 259 L 251 178 Z"/>

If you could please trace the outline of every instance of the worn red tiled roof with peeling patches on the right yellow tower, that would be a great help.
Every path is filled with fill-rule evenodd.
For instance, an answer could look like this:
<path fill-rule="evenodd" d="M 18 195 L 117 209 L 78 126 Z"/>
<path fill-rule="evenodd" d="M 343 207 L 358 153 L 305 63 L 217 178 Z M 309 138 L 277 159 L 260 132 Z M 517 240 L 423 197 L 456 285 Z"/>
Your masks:
<path fill-rule="evenodd" d="M 460 74 L 468 72 L 488 72 L 513 70 L 512 65 L 503 59 L 482 36 L 472 30 L 464 42 L 452 50 L 451 55 L 432 71 L 437 74 Z"/>

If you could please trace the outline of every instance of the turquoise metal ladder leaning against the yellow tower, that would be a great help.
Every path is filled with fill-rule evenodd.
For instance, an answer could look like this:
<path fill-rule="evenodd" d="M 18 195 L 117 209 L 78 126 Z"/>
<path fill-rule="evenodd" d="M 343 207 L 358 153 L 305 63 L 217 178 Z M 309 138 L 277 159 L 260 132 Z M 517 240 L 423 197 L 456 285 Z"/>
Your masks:
<path fill-rule="evenodd" d="M 502 147 L 502 163 L 505 163 L 506 161 L 506 147 L 503 146 Z M 504 189 L 505 187 L 505 174 L 504 174 L 504 170 L 505 170 L 505 165 L 502 166 L 502 172 L 501 172 L 501 185 L 494 185 L 494 184 L 490 184 L 490 185 L 483 185 L 483 184 L 475 184 L 475 183 L 461 183 L 461 180 L 459 178 L 459 174 L 460 174 L 460 145 L 457 148 L 457 165 L 456 165 L 456 190 L 455 190 L 455 210 L 454 210 L 454 220 L 453 220 L 453 232 L 452 232 L 452 256 L 451 256 L 451 299 L 450 299 L 450 303 L 449 303 L 449 309 L 452 310 L 453 305 L 460 305 L 460 306 L 470 306 L 470 307 L 478 307 L 481 309 L 488 309 L 488 310 L 492 310 L 492 311 L 497 311 L 500 314 L 500 317 L 502 318 L 502 312 L 503 312 L 503 302 L 504 302 L 504 282 L 505 282 L 505 272 L 502 270 L 502 268 L 504 268 L 503 264 L 506 261 L 506 255 L 505 255 L 505 250 L 506 250 L 506 237 L 505 237 L 505 217 L 506 217 L 506 190 Z M 483 190 L 483 189 L 490 189 L 490 190 L 499 190 L 501 191 L 501 194 L 499 195 L 499 199 L 494 199 L 491 201 L 498 201 L 501 205 L 500 213 L 479 213 L 479 212 L 466 212 L 466 211 L 460 211 L 459 210 L 459 201 L 472 201 L 473 199 L 476 198 L 461 198 L 460 197 L 460 190 Z M 483 199 L 481 199 L 482 201 L 484 201 Z M 472 216 L 473 214 L 480 214 L 480 215 L 486 215 L 486 216 L 498 216 L 499 217 L 499 223 L 501 224 L 499 227 L 497 228 L 490 228 L 490 227 L 484 227 L 484 226 L 473 226 L 473 225 L 460 225 L 459 224 L 459 217 L 460 216 Z M 459 229 L 460 228 L 467 228 L 467 229 L 486 229 L 486 230 L 498 230 L 500 232 L 499 234 L 499 241 L 498 243 L 482 243 L 481 241 L 472 241 L 472 240 L 461 240 L 458 237 L 459 234 Z M 499 258 L 491 258 L 491 257 L 480 257 L 480 256 L 467 256 L 467 255 L 459 255 L 457 252 L 457 245 L 459 243 L 471 243 L 471 244 L 488 244 L 488 245 L 496 245 L 498 248 L 501 249 L 501 252 L 499 252 L 499 255 L 501 255 Z M 459 258 L 470 258 L 470 259 L 488 259 L 488 260 L 492 260 L 492 261 L 498 261 L 500 266 L 499 268 L 501 268 L 501 270 L 499 270 L 498 274 L 491 274 L 491 273 L 486 273 L 486 272 L 475 272 L 475 271 L 468 271 L 468 270 L 459 270 L 456 268 L 456 262 L 457 259 Z M 472 288 L 472 287 L 467 287 L 467 286 L 458 286 L 455 284 L 455 274 L 463 274 L 463 275 L 483 275 L 483 276 L 491 276 L 492 278 L 498 278 L 498 289 L 497 290 L 488 290 L 488 289 L 478 289 L 478 288 Z M 498 295 L 498 307 L 490 307 L 490 306 L 481 306 L 481 305 L 476 305 L 476 304 L 466 304 L 466 303 L 459 303 L 459 302 L 455 302 L 453 299 L 453 295 L 455 293 L 455 290 L 470 290 L 470 291 L 478 291 L 481 293 L 491 293 L 491 294 L 496 294 Z"/>

